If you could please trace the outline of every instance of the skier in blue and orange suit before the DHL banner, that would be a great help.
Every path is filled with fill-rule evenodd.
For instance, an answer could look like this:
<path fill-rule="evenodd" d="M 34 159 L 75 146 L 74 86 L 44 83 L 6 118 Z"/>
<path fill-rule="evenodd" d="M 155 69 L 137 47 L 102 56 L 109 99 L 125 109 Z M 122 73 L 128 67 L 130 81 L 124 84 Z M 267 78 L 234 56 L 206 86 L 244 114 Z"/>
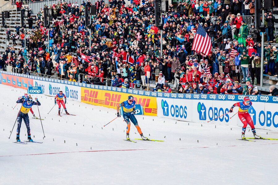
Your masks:
<path fill-rule="evenodd" d="M 119 104 L 117 106 L 117 116 L 121 117 L 121 115 L 119 114 L 119 109 L 120 107 L 123 107 L 123 117 L 124 117 L 124 121 L 127 123 L 127 127 L 126 127 L 126 140 L 130 140 L 129 139 L 129 130 L 130 130 L 130 121 L 135 125 L 135 127 L 137 128 L 138 133 L 140 134 L 141 138 L 143 140 L 148 140 L 148 138 L 146 138 L 143 134 L 142 131 L 138 125 L 137 119 L 135 118 L 134 114 L 135 112 L 135 101 L 133 100 L 133 96 L 128 96 L 128 100 L 122 102 L 121 104 Z M 130 121 L 129 121 L 130 119 Z"/>

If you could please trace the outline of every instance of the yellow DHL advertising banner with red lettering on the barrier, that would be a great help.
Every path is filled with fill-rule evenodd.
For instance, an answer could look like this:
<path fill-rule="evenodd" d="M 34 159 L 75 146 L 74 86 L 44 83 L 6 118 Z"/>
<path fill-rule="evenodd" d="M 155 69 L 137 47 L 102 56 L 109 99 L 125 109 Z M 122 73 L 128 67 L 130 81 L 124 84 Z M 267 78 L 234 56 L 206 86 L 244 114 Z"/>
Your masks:
<path fill-rule="evenodd" d="M 125 92 L 81 87 L 81 102 L 112 109 L 116 109 L 116 106 L 119 103 L 126 101 L 129 95 L 130 93 Z M 133 97 L 136 104 L 140 104 L 143 107 L 144 115 L 157 115 L 156 97 L 147 97 L 136 94 L 133 94 Z"/>

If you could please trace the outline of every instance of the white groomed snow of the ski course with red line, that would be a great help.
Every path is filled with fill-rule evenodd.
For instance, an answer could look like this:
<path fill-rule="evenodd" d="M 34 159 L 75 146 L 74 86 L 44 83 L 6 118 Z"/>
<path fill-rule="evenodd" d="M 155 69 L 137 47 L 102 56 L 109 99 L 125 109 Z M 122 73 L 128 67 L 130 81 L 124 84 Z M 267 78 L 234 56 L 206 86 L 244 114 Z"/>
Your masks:
<path fill-rule="evenodd" d="M 45 95 L 37 96 L 44 139 L 40 120 L 29 113 L 32 138 L 43 143 L 13 143 L 16 126 L 8 137 L 20 105 L 12 107 L 24 92 L 0 85 L 0 184 L 277 184 L 278 141 L 237 140 L 237 126 L 136 116 L 145 136 L 165 142 L 132 143 L 123 141 L 123 118 L 103 127 L 116 110 L 67 100 L 69 113 L 77 116 L 59 117 L 57 105 L 47 114 L 54 97 Z M 37 106 L 33 110 L 38 117 Z M 21 141 L 25 134 L 23 122 Z M 278 138 L 276 131 L 257 134 Z M 246 137 L 251 136 L 247 129 Z M 140 138 L 134 125 L 130 138 Z"/>

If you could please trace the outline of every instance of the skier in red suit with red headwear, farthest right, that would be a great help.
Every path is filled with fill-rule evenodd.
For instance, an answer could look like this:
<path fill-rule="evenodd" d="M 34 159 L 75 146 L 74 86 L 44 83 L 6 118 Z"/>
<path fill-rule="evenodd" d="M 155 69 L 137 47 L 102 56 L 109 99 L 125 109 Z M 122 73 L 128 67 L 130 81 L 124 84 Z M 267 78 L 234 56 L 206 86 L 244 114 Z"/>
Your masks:
<path fill-rule="evenodd" d="M 250 114 L 248 113 L 248 109 L 251 107 L 251 105 L 252 105 L 252 102 L 250 101 L 249 97 L 246 96 L 246 97 L 244 97 L 242 102 L 235 103 L 230 109 L 230 113 L 232 113 L 234 107 L 238 107 L 238 117 L 239 117 L 240 121 L 243 123 L 242 136 L 241 136 L 242 139 L 246 139 L 244 134 L 245 134 L 247 124 L 250 125 L 252 132 L 254 134 L 254 137 L 256 139 L 261 138 L 261 136 L 256 135 L 256 130 L 254 127 L 253 120 L 250 117 Z"/>

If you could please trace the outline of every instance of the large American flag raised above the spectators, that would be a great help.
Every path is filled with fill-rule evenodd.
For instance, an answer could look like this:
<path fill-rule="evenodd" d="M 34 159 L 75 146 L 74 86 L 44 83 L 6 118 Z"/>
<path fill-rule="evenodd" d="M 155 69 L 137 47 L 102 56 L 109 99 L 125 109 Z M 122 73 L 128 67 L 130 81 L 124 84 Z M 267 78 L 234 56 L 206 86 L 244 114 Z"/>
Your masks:
<path fill-rule="evenodd" d="M 197 33 L 194 37 L 192 50 L 200 51 L 201 53 L 208 55 L 212 49 L 211 40 L 204 30 L 204 28 L 198 24 Z"/>

